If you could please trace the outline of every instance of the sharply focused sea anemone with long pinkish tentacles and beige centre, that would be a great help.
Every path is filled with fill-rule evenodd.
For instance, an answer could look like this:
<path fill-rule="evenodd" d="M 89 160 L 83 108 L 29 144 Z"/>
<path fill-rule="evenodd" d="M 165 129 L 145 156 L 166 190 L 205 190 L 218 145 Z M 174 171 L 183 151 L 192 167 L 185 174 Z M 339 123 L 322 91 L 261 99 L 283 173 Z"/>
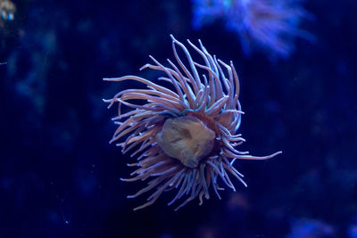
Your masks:
<path fill-rule="evenodd" d="M 136 209 L 152 205 L 163 192 L 171 189 L 179 191 L 169 205 L 186 197 L 177 209 L 197 196 L 201 205 L 203 196 L 210 198 L 211 186 L 220 199 L 219 191 L 223 188 L 218 178 L 233 191 L 236 189 L 228 174 L 246 186 L 243 175 L 233 167 L 235 160 L 266 160 L 281 153 L 256 157 L 237 151 L 235 147 L 245 139 L 236 134 L 243 111 L 238 101 L 239 80 L 233 63 L 228 65 L 212 57 L 200 40 L 200 48 L 187 40 L 203 59 L 202 63 L 194 62 L 186 46 L 170 37 L 179 67 L 170 60 L 167 61 L 171 68 L 165 67 L 149 56 L 154 64 L 145 64 L 140 70 L 165 72 L 166 77 L 158 79 L 169 82 L 172 89 L 137 76 L 104 78 L 117 82 L 134 80 L 147 86 L 147 89 L 126 89 L 104 100 L 110 103 L 108 108 L 119 103 L 118 116 L 112 119 L 118 128 L 111 143 L 119 141 L 117 145 L 123 154 L 134 151 L 130 156 L 137 156 L 137 163 L 129 164 L 129 167 L 138 167 L 131 173 L 134 177 L 121 180 L 151 179 L 145 188 L 128 198 L 156 189 L 147 202 Z M 179 57 L 178 46 L 186 56 L 189 69 Z M 199 71 L 205 74 L 200 77 Z M 129 103 L 130 100 L 143 100 L 145 104 Z M 121 105 L 133 110 L 121 113 Z"/>

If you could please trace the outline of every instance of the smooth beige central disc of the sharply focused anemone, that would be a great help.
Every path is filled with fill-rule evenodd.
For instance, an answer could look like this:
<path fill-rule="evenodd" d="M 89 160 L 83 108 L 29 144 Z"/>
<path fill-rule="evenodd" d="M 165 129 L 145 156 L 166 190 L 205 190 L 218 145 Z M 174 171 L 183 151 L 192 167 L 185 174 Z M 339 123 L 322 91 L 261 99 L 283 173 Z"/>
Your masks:
<path fill-rule="evenodd" d="M 166 119 L 155 138 L 167 155 L 188 168 L 197 168 L 200 160 L 212 152 L 216 135 L 200 119 L 182 116 Z"/>

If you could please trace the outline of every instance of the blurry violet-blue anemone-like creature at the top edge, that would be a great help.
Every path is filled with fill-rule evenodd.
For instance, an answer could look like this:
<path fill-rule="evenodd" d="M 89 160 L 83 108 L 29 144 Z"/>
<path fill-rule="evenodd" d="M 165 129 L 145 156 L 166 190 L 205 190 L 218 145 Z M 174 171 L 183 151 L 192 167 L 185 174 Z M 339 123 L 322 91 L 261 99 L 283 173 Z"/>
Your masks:
<path fill-rule="evenodd" d="M 313 41 L 307 31 L 299 29 L 304 19 L 311 19 L 298 0 L 193 0 L 195 29 L 215 19 L 226 21 L 237 32 L 243 51 L 264 49 L 270 56 L 287 58 L 295 49 L 294 38 Z"/>

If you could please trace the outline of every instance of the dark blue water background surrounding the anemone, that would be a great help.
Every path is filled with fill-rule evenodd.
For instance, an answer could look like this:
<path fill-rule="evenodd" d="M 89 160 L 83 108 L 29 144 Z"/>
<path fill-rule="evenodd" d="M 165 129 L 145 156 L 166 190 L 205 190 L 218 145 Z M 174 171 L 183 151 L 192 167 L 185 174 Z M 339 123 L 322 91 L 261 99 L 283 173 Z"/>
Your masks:
<path fill-rule="evenodd" d="M 0 237 L 357 237 L 357 2 L 303 3 L 316 41 L 275 60 L 246 55 L 220 19 L 194 29 L 190 1 L 13 3 L 0 25 Z M 102 102 L 126 85 L 102 78 L 154 80 L 138 69 L 173 59 L 170 34 L 235 63 L 239 148 L 283 154 L 237 161 L 248 187 L 221 201 L 175 212 L 164 193 L 134 212 L 146 197 L 126 196 L 145 184 L 120 182 L 135 159 L 108 144 L 116 110 Z"/>

